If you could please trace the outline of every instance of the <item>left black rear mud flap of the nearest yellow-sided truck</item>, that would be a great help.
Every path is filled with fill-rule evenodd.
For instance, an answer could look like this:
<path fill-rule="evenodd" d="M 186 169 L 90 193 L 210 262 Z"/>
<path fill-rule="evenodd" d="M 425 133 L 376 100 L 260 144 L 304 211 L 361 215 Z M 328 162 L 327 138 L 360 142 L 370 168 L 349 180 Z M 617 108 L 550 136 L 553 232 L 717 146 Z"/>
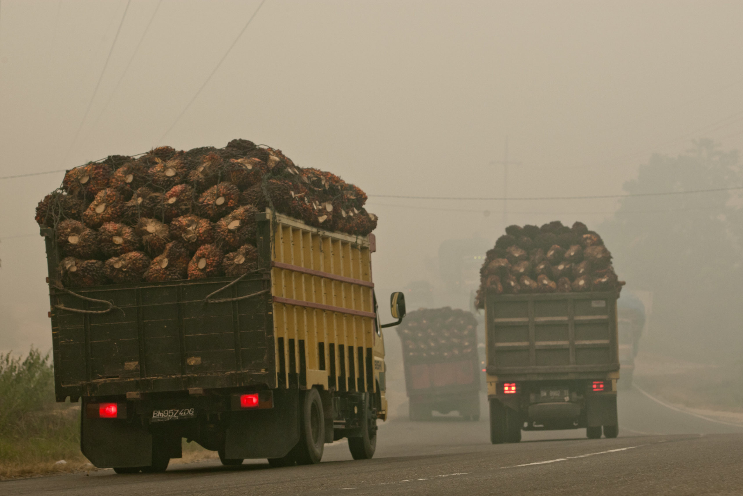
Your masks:
<path fill-rule="evenodd" d="M 126 420 L 88 419 L 82 415 L 80 450 L 98 468 L 149 466 L 152 434 Z"/>

